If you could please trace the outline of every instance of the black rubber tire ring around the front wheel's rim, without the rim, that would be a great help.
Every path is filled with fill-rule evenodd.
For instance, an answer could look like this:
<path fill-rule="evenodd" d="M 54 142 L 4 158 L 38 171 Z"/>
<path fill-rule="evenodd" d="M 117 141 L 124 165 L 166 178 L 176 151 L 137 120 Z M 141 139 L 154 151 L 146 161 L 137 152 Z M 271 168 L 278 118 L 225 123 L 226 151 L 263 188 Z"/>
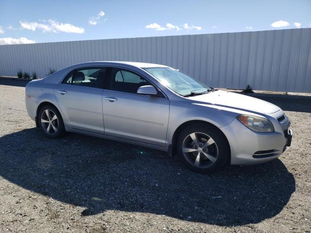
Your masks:
<path fill-rule="evenodd" d="M 185 138 L 190 133 L 196 133 L 196 132 L 205 133 L 209 135 L 210 137 L 212 137 L 218 148 L 218 158 L 216 162 L 207 168 L 200 168 L 200 167 L 190 164 L 190 162 L 188 162 L 188 160 L 185 158 L 184 153 L 182 151 L 182 145 L 183 145 Z M 208 172 L 213 172 L 215 170 L 218 170 L 222 166 L 224 166 L 228 158 L 228 145 L 224 138 L 224 135 L 220 133 L 219 130 L 215 129 L 214 127 L 209 127 L 208 125 L 195 124 L 195 125 L 188 126 L 180 133 L 178 140 L 177 140 L 177 153 L 181 161 L 190 170 L 195 171 L 195 172 L 200 172 L 200 173 L 208 173 Z"/>

